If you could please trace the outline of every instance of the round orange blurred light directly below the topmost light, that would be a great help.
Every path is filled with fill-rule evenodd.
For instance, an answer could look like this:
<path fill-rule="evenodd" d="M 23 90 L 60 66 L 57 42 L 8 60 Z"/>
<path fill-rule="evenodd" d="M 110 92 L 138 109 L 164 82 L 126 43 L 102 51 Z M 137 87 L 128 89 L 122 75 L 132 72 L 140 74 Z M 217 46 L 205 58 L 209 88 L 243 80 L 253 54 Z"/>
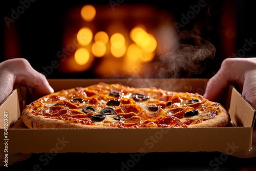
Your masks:
<path fill-rule="evenodd" d="M 92 41 L 93 33 L 91 29 L 83 27 L 78 31 L 76 37 L 79 44 L 85 46 L 90 44 L 90 42 Z"/>

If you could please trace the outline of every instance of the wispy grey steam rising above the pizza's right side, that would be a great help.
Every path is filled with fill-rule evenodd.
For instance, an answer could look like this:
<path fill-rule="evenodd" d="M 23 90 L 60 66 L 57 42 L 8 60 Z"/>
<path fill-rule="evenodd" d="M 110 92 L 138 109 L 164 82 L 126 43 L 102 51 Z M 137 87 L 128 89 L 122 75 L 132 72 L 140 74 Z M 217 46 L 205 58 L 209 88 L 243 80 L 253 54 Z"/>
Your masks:
<path fill-rule="evenodd" d="M 185 78 L 203 73 L 205 62 L 215 56 L 215 47 L 207 40 L 180 32 L 173 50 L 161 54 L 144 70 L 155 78 Z"/>

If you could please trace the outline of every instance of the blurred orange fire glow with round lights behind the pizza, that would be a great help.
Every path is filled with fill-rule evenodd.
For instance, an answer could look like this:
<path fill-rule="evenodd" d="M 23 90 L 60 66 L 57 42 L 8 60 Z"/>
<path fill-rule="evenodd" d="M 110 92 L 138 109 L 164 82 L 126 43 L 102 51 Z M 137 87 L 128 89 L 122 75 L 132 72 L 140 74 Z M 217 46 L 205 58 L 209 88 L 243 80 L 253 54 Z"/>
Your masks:
<path fill-rule="evenodd" d="M 60 62 L 60 70 L 91 69 L 98 77 L 139 75 L 143 66 L 161 53 L 158 46 L 165 44 L 161 39 L 168 34 L 159 31 L 166 26 L 167 30 L 174 30 L 172 24 L 166 25 L 160 19 L 161 15 L 166 16 L 148 6 L 123 6 L 114 11 L 93 5 L 73 9 L 63 36 L 69 55 Z M 169 14 L 166 18 L 172 22 Z"/>

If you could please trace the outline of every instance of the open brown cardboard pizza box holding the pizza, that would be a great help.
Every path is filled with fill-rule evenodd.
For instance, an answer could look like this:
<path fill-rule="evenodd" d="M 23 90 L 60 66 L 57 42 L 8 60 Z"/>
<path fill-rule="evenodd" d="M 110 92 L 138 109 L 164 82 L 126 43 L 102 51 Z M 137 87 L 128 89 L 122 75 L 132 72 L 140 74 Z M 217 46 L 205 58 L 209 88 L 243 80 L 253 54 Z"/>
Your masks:
<path fill-rule="evenodd" d="M 49 79 L 55 91 L 98 82 L 203 94 L 207 79 Z M 218 102 L 231 117 L 227 127 L 193 129 L 28 129 L 20 116 L 30 89 L 17 87 L 0 106 L 1 152 L 149 153 L 250 151 L 255 110 L 232 86 Z M 7 127 L 8 125 L 8 127 Z"/>

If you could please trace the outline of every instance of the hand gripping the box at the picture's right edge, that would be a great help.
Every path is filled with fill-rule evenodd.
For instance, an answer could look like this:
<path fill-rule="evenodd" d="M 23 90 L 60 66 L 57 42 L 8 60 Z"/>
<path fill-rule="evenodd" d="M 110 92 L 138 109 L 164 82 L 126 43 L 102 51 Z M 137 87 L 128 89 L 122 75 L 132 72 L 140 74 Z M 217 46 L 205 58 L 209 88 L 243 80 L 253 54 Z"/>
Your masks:
<path fill-rule="evenodd" d="M 256 109 L 256 58 L 227 58 L 220 70 L 207 82 L 204 97 L 214 101 L 228 87 L 236 84 L 242 96 Z M 250 152 L 235 152 L 233 156 L 249 158 L 256 156 L 256 129 L 252 135 Z"/>

